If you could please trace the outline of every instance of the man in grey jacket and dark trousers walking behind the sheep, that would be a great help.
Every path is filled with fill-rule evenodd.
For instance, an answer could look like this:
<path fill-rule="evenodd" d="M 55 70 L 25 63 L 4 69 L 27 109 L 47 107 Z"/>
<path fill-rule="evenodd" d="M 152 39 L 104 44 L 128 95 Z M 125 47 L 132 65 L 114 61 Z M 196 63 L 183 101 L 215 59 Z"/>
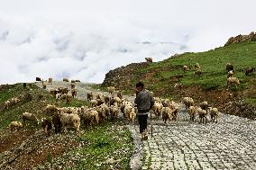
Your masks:
<path fill-rule="evenodd" d="M 151 111 L 155 101 L 150 92 L 144 89 L 144 84 L 139 82 L 136 84 L 136 98 L 135 105 L 138 109 L 138 121 L 140 125 L 140 133 L 142 134 L 142 140 L 148 139 L 147 136 L 147 119 L 148 114 Z"/>

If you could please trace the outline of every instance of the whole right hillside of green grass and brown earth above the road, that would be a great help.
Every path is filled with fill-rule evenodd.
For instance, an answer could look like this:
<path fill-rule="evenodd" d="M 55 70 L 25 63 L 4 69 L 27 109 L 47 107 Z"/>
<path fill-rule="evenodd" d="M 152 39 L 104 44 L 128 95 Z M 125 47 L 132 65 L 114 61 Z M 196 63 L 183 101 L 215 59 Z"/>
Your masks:
<path fill-rule="evenodd" d="M 238 77 L 241 83 L 237 87 L 232 85 L 227 88 L 225 66 L 229 62 L 234 67 L 233 76 Z M 202 67 L 202 76 L 194 75 L 196 63 Z M 187 72 L 182 68 L 185 65 L 191 66 Z M 112 70 L 111 74 L 106 75 L 103 85 L 114 85 L 128 94 L 133 94 L 136 82 L 142 81 L 157 96 L 174 100 L 191 96 L 196 103 L 206 100 L 222 111 L 225 109 L 224 104 L 229 102 L 243 101 L 242 104 L 249 104 L 249 107 L 256 106 L 256 74 L 254 72 L 251 76 L 244 75 L 246 67 L 256 67 L 255 41 L 231 44 L 206 52 L 187 52 L 160 62 L 130 69 L 129 67 L 131 66 Z M 129 75 L 123 76 L 126 72 Z M 255 112 L 255 109 L 250 112 Z"/>

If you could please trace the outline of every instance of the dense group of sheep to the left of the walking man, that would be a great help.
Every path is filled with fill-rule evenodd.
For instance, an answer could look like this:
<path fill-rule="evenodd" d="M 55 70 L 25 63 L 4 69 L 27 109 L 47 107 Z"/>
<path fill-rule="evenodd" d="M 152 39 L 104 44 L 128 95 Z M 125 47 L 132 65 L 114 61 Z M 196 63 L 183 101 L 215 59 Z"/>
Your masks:
<path fill-rule="evenodd" d="M 42 81 L 38 77 L 36 80 L 41 81 L 42 87 L 46 88 L 47 81 Z M 69 82 L 66 78 L 63 81 Z M 48 83 L 51 84 L 51 82 L 52 78 L 49 79 Z M 76 82 L 79 81 L 71 80 L 71 90 L 68 87 L 59 87 L 58 89 L 50 90 L 50 94 L 56 100 L 66 100 L 67 103 L 71 103 L 72 99 L 77 96 Z M 56 133 L 62 130 L 67 131 L 69 127 L 79 131 L 81 122 L 88 127 L 90 125 L 97 125 L 103 121 L 114 121 L 120 112 L 123 112 L 123 116 L 133 122 L 136 117 L 136 110 L 133 103 L 129 102 L 128 99 L 123 99 L 122 92 L 114 91 L 114 87 L 109 87 L 108 90 L 109 95 L 87 93 L 87 100 L 90 103 L 89 107 L 87 105 L 81 107 L 57 107 L 56 105 L 48 104 L 43 109 L 47 118 L 42 118 L 41 121 L 33 113 L 23 112 L 23 122 L 12 121 L 9 125 L 10 130 L 23 128 L 23 124 L 26 121 L 31 121 L 37 125 L 41 123 L 47 135 L 50 134 L 52 124 Z M 71 94 L 69 94 L 69 91 Z"/>

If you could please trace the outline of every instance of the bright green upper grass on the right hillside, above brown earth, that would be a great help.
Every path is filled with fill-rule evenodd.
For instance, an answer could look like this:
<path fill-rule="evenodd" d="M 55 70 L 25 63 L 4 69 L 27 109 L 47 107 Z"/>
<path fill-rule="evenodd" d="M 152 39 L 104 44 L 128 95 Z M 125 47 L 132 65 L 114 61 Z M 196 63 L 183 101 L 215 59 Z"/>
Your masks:
<path fill-rule="evenodd" d="M 205 90 L 224 89 L 227 87 L 225 65 L 228 62 L 233 64 L 234 76 L 241 81 L 241 85 L 234 90 L 244 89 L 250 80 L 250 77 L 244 75 L 244 69 L 256 67 L 256 42 L 233 44 L 206 52 L 185 53 L 177 58 L 168 58 L 152 63 L 148 67 L 137 68 L 134 79 L 138 80 L 146 73 L 156 72 L 154 76 L 142 79 L 149 89 L 154 90 L 162 85 L 169 85 L 169 79 L 172 76 L 183 76 L 180 78 L 180 83 L 185 86 L 198 85 Z M 182 66 L 192 65 L 194 67 L 196 63 L 202 67 L 202 76 L 194 76 L 195 68 L 183 72 Z M 159 81 L 161 83 L 155 83 Z"/>

